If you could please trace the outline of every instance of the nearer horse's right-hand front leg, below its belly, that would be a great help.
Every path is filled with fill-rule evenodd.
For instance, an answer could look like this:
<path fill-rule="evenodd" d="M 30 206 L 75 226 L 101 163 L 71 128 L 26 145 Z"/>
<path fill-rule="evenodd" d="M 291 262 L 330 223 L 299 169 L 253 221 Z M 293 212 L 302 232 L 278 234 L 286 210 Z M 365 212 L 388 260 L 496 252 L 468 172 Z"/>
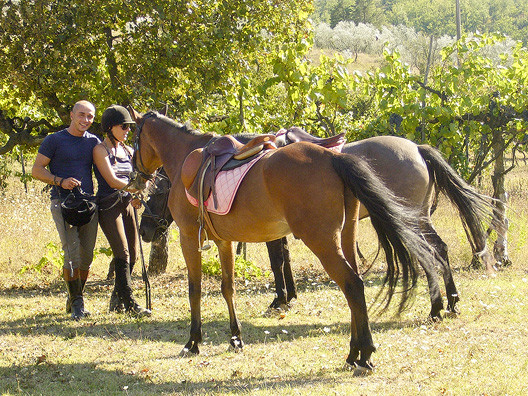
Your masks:
<path fill-rule="evenodd" d="M 216 241 L 218 256 L 222 264 L 222 295 L 229 311 L 229 327 L 231 329 L 230 346 L 235 352 L 242 350 L 244 343 L 240 336 L 240 322 L 235 311 L 235 256 L 231 242 Z"/>

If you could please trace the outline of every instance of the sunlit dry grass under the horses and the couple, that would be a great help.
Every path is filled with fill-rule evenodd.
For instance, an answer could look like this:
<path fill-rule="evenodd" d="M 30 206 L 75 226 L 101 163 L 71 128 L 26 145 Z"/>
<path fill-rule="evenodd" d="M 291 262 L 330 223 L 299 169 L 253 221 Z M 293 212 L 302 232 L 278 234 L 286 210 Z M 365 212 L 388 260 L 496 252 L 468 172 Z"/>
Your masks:
<path fill-rule="evenodd" d="M 461 294 L 458 318 L 429 323 L 429 297 L 421 278 L 414 304 L 370 319 L 376 365 L 372 375 L 342 369 L 348 353 L 350 311 L 301 242 L 291 240 L 299 300 L 286 315 L 267 315 L 272 278 L 237 282 L 243 353 L 228 350 L 228 314 L 219 280 L 204 277 L 201 354 L 179 357 L 189 335 L 185 265 L 177 241 L 166 274 L 151 278 L 154 313 L 135 320 L 110 314 L 109 259 L 98 255 L 87 285 L 92 316 L 72 322 L 64 313 L 59 270 L 28 270 L 58 243 L 42 184 L 19 183 L 0 197 L 0 393 L 5 395 L 523 395 L 528 393 L 528 266 L 526 169 L 508 178 L 512 191 L 510 256 L 513 265 L 487 276 L 468 270 L 470 253 L 452 208 L 442 200 L 434 215 L 450 247 Z M 362 249 L 376 250 L 368 223 Z M 99 235 L 97 247 L 106 246 Z M 248 246 L 248 259 L 269 269 L 264 245 Z M 149 247 L 144 246 L 148 258 Z M 365 278 L 367 300 L 379 290 L 378 264 Z M 137 265 L 139 267 L 139 265 Z M 138 299 L 144 301 L 139 271 Z M 393 304 L 395 306 L 396 304 Z"/>

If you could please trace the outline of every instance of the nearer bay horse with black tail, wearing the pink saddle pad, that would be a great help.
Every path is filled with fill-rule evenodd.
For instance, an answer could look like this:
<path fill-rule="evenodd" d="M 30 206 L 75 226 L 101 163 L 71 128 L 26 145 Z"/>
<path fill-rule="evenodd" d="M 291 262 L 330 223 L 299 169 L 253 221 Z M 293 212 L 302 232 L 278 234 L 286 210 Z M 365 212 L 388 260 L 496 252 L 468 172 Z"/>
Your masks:
<path fill-rule="evenodd" d="M 190 338 L 182 354 L 197 354 L 202 341 L 200 248 L 204 233 L 197 222 L 199 210 L 186 197 L 181 171 L 186 157 L 205 147 L 214 135 L 194 131 L 156 112 L 140 115 L 130 110 L 137 124 L 134 187 L 144 189 L 162 165 L 172 183 L 168 206 L 180 230 L 191 309 Z M 401 312 L 413 294 L 418 265 L 434 265 L 432 251 L 421 235 L 419 214 L 403 206 L 367 163 L 352 154 L 300 142 L 269 150 L 255 163 L 240 184 L 229 213 L 211 214 L 216 232 L 205 226 L 218 247 L 232 348 L 243 346 L 235 310 L 232 241 L 266 242 L 292 233 L 317 256 L 345 295 L 351 311 L 346 363 L 354 374 L 371 370 L 370 358 L 376 348 L 356 258 L 360 203 L 367 208 L 385 252 L 385 302 L 390 303 L 401 281 Z"/>

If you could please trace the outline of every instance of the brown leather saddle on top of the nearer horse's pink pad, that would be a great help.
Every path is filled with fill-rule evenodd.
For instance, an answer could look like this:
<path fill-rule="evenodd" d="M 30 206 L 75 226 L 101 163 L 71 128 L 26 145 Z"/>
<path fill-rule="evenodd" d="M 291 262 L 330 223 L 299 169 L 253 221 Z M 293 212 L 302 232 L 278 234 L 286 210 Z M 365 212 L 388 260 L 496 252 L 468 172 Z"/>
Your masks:
<path fill-rule="evenodd" d="M 181 173 L 183 185 L 198 202 L 204 202 L 212 193 L 215 207 L 218 207 L 215 191 L 218 172 L 228 162 L 233 169 L 262 150 L 275 148 L 275 135 L 271 134 L 258 135 L 246 144 L 230 135 L 215 137 L 205 147 L 192 151 L 185 158 Z M 232 160 L 238 164 L 233 165 Z"/>

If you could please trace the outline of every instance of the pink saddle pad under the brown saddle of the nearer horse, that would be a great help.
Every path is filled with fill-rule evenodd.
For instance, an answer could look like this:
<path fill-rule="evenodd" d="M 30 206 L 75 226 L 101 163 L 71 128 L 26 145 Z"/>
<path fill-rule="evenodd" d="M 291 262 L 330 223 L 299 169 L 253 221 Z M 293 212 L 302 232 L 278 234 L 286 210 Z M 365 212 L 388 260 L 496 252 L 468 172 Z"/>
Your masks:
<path fill-rule="evenodd" d="M 215 180 L 218 208 L 215 208 L 213 195 L 210 194 L 207 198 L 207 201 L 204 202 L 204 205 L 207 208 L 208 212 L 218 215 L 226 215 L 229 213 L 229 211 L 231 210 L 231 206 L 233 205 L 233 201 L 235 200 L 235 195 L 238 191 L 238 187 L 240 187 L 240 183 L 242 183 L 244 176 L 251 169 L 251 167 L 255 165 L 257 161 L 264 156 L 264 154 L 266 154 L 267 151 L 268 150 L 265 150 L 264 152 L 262 152 L 262 154 L 255 157 L 253 160 L 242 166 L 239 166 L 238 168 L 218 172 L 218 175 L 216 176 Z M 188 193 L 187 189 L 185 190 L 185 194 L 187 195 L 187 199 L 189 200 L 189 202 L 192 205 L 198 207 L 198 200 L 192 197 Z"/>

